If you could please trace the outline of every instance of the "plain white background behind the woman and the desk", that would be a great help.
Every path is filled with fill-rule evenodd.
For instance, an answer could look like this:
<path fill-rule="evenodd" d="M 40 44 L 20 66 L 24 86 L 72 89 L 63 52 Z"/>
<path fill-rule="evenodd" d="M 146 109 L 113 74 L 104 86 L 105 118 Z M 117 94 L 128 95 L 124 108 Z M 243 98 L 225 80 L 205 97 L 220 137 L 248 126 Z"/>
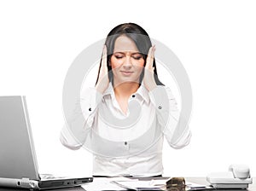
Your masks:
<path fill-rule="evenodd" d="M 83 49 L 136 22 L 172 49 L 192 84 L 193 137 L 181 150 L 165 143 L 164 175 L 203 177 L 238 163 L 255 177 L 255 9 L 236 0 L 1 1 L 0 95 L 26 96 L 40 172 L 91 175 L 90 153 L 59 142 L 64 79 Z"/>

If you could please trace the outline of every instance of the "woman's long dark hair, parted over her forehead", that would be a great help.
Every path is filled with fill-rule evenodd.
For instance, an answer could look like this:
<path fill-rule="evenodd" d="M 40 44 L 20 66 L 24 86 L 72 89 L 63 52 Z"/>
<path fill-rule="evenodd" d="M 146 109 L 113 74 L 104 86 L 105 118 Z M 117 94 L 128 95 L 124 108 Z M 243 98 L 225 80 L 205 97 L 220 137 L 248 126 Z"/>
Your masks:
<path fill-rule="evenodd" d="M 152 43 L 150 41 L 150 38 L 148 36 L 148 33 L 143 29 L 143 27 L 138 26 L 135 23 L 124 23 L 120 24 L 119 26 L 115 26 L 107 36 L 107 39 L 105 41 L 105 44 L 107 46 L 107 62 L 108 62 L 108 78 L 109 81 L 112 82 L 113 84 L 113 72 L 112 68 L 109 64 L 111 56 L 113 55 L 113 48 L 114 48 L 114 43 L 119 36 L 125 35 L 128 38 L 131 38 L 131 40 L 137 45 L 137 49 L 139 52 L 143 55 L 143 60 L 144 60 L 144 67 L 146 65 L 147 61 L 147 56 L 148 56 L 148 50 L 152 46 Z M 96 84 L 99 79 L 99 74 L 100 74 L 100 69 L 102 67 L 102 59 L 100 63 L 100 67 L 98 70 L 98 75 L 96 79 Z M 157 76 L 157 70 L 156 70 L 156 65 L 155 65 L 155 60 L 153 61 L 153 67 L 154 67 L 154 80 L 157 85 L 164 85 L 160 82 L 158 76 Z M 140 79 L 139 79 L 139 85 L 141 85 L 144 77 L 144 69 L 141 73 Z"/>

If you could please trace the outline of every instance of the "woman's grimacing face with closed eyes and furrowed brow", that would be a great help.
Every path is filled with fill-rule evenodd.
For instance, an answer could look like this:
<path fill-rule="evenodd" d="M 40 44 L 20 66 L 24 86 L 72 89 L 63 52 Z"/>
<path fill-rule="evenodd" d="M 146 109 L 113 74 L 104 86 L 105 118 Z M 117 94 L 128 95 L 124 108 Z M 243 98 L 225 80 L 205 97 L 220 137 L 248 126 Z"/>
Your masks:
<path fill-rule="evenodd" d="M 113 71 L 114 85 L 125 82 L 138 83 L 143 71 L 144 59 L 131 38 L 122 35 L 114 43 L 110 65 Z"/>

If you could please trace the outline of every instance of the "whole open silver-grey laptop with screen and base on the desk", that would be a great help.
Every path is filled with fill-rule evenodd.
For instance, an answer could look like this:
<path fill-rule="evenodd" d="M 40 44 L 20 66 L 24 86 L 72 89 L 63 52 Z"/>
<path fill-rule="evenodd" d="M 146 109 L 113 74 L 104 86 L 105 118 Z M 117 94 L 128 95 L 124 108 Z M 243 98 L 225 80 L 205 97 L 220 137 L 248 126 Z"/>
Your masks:
<path fill-rule="evenodd" d="M 0 187 L 49 189 L 80 186 L 93 177 L 38 174 L 25 96 L 0 96 Z"/>

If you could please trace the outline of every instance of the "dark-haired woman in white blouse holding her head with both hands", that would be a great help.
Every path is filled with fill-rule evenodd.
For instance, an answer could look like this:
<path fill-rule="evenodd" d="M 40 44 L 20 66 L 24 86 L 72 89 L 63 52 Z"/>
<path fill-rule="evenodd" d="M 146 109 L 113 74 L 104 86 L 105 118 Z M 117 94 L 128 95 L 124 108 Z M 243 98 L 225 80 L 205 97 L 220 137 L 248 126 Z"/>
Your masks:
<path fill-rule="evenodd" d="M 108 33 L 95 88 L 84 91 L 82 113 L 61 131 L 67 148 L 90 147 L 93 176 L 161 176 L 163 137 L 172 148 L 189 144 L 189 128 L 172 142 L 177 102 L 157 76 L 154 51 L 137 24 Z"/>

